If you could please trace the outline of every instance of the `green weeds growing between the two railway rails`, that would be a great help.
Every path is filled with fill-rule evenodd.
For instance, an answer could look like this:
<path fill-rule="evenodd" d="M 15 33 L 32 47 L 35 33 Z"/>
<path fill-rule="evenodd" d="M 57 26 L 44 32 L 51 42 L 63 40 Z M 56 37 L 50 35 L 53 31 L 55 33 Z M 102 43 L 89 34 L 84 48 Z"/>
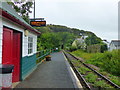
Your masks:
<path fill-rule="evenodd" d="M 80 61 L 78 60 L 71 60 L 71 61 L 74 64 L 74 66 L 77 68 L 77 70 L 84 76 L 86 81 L 94 88 L 113 88 L 109 84 L 107 84 L 104 80 L 101 80 L 101 78 L 97 76 L 95 73 L 91 72 L 90 69 L 86 68 Z M 117 81 L 116 78 L 114 78 L 114 81 Z"/>

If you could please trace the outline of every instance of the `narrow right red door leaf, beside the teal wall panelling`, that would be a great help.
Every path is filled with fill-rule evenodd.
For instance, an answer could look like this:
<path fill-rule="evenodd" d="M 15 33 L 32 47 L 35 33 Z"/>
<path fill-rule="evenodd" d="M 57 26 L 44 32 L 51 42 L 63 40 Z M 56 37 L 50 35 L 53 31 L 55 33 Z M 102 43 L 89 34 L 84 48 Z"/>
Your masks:
<path fill-rule="evenodd" d="M 13 82 L 20 80 L 20 33 L 13 33 Z"/>

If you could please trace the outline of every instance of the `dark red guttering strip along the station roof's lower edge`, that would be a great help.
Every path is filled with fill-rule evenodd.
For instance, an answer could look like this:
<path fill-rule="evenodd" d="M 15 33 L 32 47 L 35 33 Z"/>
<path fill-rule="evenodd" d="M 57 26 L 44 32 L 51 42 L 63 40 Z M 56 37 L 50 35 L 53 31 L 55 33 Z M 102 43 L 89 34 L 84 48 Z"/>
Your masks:
<path fill-rule="evenodd" d="M 14 16 L 10 15 L 9 13 L 7 13 L 4 10 L 0 9 L 0 15 L 2 14 L 3 17 L 17 23 L 18 25 L 21 25 L 23 27 L 25 27 L 27 30 L 34 32 L 35 34 L 39 35 L 41 34 L 40 32 L 38 32 L 37 30 L 33 29 L 32 27 L 30 27 L 29 25 L 25 24 L 24 22 L 20 21 L 19 19 L 16 19 Z"/>

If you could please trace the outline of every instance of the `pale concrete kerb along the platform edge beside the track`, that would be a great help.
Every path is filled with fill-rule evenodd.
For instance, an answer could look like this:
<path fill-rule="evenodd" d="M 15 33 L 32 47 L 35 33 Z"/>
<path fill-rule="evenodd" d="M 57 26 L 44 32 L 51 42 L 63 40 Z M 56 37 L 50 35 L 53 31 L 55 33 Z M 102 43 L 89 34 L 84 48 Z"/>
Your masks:
<path fill-rule="evenodd" d="M 63 52 L 62 52 L 62 54 L 64 55 Z M 73 71 L 72 67 L 70 66 L 67 58 L 65 57 L 65 55 L 64 55 L 64 58 L 65 58 L 65 63 L 67 65 L 67 69 L 68 69 L 69 74 L 70 74 L 70 76 L 72 78 L 72 81 L 73 81 L 73 84 L 74 84 L 75 88 L 83 88 L 80 81 L 79 81 L 79 79 L 77 78 L 75 72 Z"/>

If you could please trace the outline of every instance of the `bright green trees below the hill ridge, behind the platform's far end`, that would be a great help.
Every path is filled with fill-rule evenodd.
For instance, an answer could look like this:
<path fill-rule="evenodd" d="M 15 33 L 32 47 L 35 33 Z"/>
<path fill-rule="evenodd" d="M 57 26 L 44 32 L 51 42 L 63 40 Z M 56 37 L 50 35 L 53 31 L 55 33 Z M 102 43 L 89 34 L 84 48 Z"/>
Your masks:
<path fill-rule="evenodd" d="M 73 42 L 74 35 L 69 32 L 43 33 L 38 37 L 38 50 L 46 48 L 69 47 Z"/>

